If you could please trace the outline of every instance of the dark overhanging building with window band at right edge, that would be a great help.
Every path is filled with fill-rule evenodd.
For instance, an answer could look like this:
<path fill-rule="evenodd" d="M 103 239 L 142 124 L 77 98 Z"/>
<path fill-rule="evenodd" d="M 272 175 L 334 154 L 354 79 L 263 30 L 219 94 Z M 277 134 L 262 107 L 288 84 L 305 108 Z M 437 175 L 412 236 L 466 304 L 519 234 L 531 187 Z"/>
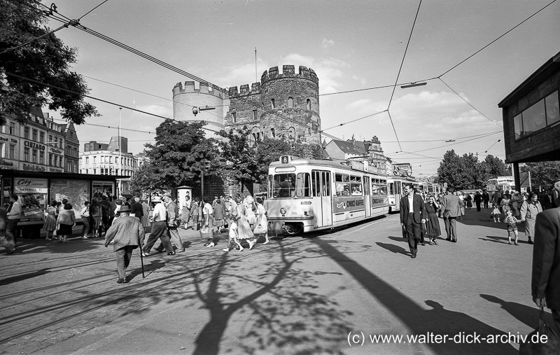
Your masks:
<path fill-rule="evenodd" d="M 560 160 L 560 52 L 503 99 L 505 162 L 521 186 L 520 162 Z"/>

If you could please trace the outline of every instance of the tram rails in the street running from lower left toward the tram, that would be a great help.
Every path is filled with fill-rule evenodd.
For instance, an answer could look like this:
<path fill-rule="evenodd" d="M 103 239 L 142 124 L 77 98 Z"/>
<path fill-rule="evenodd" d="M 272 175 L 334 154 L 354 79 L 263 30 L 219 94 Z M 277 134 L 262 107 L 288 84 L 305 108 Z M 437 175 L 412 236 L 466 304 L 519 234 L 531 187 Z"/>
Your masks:
<path fill-rule="evenodd" d="M 158 288 L 162 288 L 165 286 L 169 286 L 172 284 L 176 284 L 178 281 L 186 281 L 186 280 L 192 280 L 197 276 L 200 276 L 200 274 L 202 273 L 207 273 L 210 272 L 212 270 L 216 270 L 220 267 L 223 267 L 224 265 L 228 265 L 230 263 L 235 263 L 239 260 L 244 260 L 246 258 L 251 258 L 255 255 L 261 254 L 261 253 L 265 253 L 268 251 L 272 251 L 274 249 L 279 249 L 281 247 L 286 247 L 286 246 L 290 246 L 293 244 L 298 244 L 301 242 L 305 242 L 307 241 L 307 238 L 302 238 L 302 239 L 298 239 L 292 242 L 287 242 L 287 243 L 283 243 L 283 244 L 279 244 L 279 245 L 275 245 L 275 246 L 267 246 L 267 248 L 265 249 L 253 249 L 253 252 L 251 253 L 246 253 L 244 255 L 240 255 L 238 254 L 237 256 L 233 257 L 233 258 L 228 258 L 227 260 L 221 260 L 218 261 L 217 263 L 212 263 L 209 265 L 202 265 L 200 267 L 196 267 L 194 269 L 190 269 L 190 270 L 186 270 L 183 272 L 175 272 L 173 275 L 163 275 L 162 277 L 157 277 L 155 279 L 151 279 L 151 280 L 147 280 L 144 282 L 139 282 L 139 283 L 135 283 L 135 284 L 127 284 L 127 286 L 123 287 L 123 288 L 114 288 L 111 289 L 109 291 L 105 291 L 103 293 L 96 293 L 94 295 L 86 295 L 83 296 L 81 298 L 78 299 L 74 299 L 74 300 L 70 300 L 68 302 L 64 302 L 64 304 L 61 305 L 50 305 L 47 307 L 42 307 L 41 309 L 32 309 L 28 312 L 24 312 L 24 313 L 20 313 L 18 315 L 15 316 L 5 316 L 2 321 L 0 321 L 0 326 L 9 326 L 10 323 L 15 323 L 17 321 L 21 321 L 22 319 L 30 319 L 30 318 L 37 318 L 38 321 L 33 323 L 33 326 L 30 326 L 27 329 L 23 329 L 20 330 L 18 333 L 15 333 L 13 335 L 10 335 L 9 337 L 3 337 L 0 339 L 0 344 L 3 344 L 4 342 L 8 342 L 9 340 L 18 338 L 18 337 L 22 337 L 25 335 L 29 335 L 31 333 L 34 333 L 38 330 L 43 330 L 45 328 L 48 328 L 50 326 L 53 326 L 57 323 L 62 323 L 63 321 L 67 321 L 69 319 L 73 319 L 76 318 L 78 316 L 82 316 L 83 314 L 87 314 L 88 312 L 92 312 L 94 310 L 97 309 L 102 309 L 103 307 L 107 307 L 109 305 L 114 305 L 117 304 L 119 302 L 123 302 L 125 300 L 129 300 L 131 298 L 137 298 L 139 295 L 146 295 L 148 293 L 151 293 L 152 291 L 156 291 Z M 221 249 L 214 249 L 212 251 L 207 251 L 205 253 L 200 253 L 198 254 L 199 256 L 202 255 L 209 255 L 211 253 L 223 253 L 223 251 L 221 251 Z M 113 259 L 114 260 L 114 259 Z M 176 262 L 176 264 L 180 264 L 180 263 L 185 263 L 188 260 L 190 260 L 190 258 L 186 258 L 186 260 L 181 260 L 179 262 Z M 208 275 L 206 278 L 211 277 L 211 275 Z M 95 279 L 97 277 L 93 277 L 92 279 Z M 206 279 L 204 278 L 204 279 Z M 111 279 L 114 279 L 113 277 L 111 277 Z M 146 280 L 146 279 L 144 279 Z M 100 281 L 105 281 L 105 280 L 100 280 Z M 113 297 L 114 296 L 114 297 Z M 101 302 L 99 301 L 100 298 L 109 298 L 110 300 L 102 300 Z M 55 312 L 55 314 L 66 314 L 66 312 L 64 312 L 64 309 L 67 308 L 71 308 L 71 307 L 76 307 L 78 306 L 79 308 L 81 308 L 80 310 L 78 310 L 77 312 L 72 312 L 72 314 L 69 314 L 67 316 L 62 316 L 59 317 L 57 319 L 54 319 L 52 321 L 47 321 L 45 322 L 41 322 L 41 319 L 45 319 L 48 314 L 52 314 L 53 312 Z"/>

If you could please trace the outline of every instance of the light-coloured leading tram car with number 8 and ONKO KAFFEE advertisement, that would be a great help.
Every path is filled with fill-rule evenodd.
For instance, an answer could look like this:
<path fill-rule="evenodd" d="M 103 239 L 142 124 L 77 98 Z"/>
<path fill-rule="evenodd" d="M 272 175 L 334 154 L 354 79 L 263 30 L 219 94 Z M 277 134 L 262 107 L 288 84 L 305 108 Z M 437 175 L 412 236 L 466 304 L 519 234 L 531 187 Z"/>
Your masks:
<path fill-rule="evenodd" d="M 272 162 L 265 200 L 269 232 L 325 230 L 387 214 L 386 176 L 356 163 L 291 155 Z"/>

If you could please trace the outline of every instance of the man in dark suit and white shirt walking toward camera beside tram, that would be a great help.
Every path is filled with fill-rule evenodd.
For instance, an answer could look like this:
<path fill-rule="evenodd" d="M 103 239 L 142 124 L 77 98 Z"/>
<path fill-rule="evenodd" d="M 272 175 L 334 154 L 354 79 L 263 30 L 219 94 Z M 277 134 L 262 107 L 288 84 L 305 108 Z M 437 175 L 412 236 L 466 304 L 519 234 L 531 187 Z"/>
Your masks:
<path fill-rule="evenodd" d="M 402 187 L 403 196 L 400 198 L 400 225 L 407 232 L 408 247 L 411 258 L 416 258 L 418 241 L 421 237 L 421 223 L 426 223 L 426 207 L 420 195 L 414 193 L 412 183 Z"/>

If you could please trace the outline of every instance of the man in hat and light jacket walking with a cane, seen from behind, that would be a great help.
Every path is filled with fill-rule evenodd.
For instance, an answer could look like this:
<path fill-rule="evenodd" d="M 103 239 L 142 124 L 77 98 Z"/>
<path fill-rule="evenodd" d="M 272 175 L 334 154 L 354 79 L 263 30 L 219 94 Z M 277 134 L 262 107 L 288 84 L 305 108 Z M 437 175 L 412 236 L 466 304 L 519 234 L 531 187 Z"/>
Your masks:
<path fill-rule="evenodd" d="M 132 251 L 138 248 L 140 241 L 144 240 L 144 227 L 140 220 L 130 216 L 130 207 L 120 207 L 120 217 L 116 218 L 113 225 L 105 235 L 105 246 L 113 241 L 115 256 L 117 258 L 117 284 L 126 284 L 126 270 L 130 265 Z M 144 260 L 142 261 L 142 277 L 144 277 Z"/>

